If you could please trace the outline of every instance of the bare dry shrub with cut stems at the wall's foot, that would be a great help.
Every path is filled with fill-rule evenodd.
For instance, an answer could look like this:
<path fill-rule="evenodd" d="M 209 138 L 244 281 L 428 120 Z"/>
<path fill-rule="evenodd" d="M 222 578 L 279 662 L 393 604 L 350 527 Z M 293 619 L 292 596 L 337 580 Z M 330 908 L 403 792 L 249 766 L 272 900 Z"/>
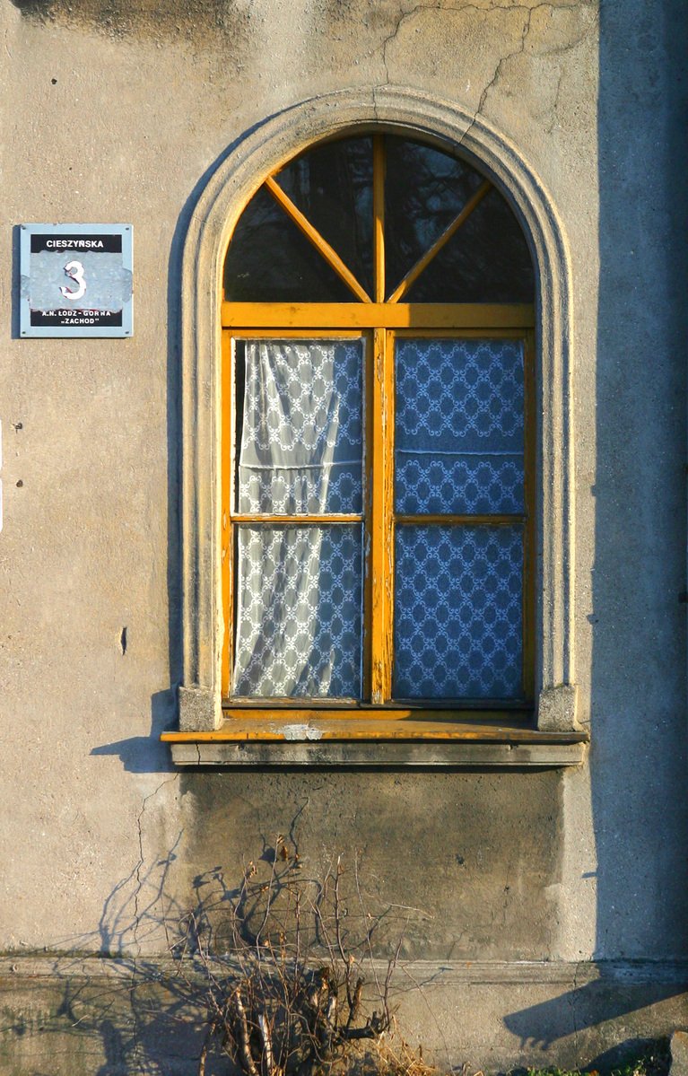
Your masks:
<path fill-rule="evenodd" d="M 245 1076 L 320 1076 L 343 1068 L 356 1047 L 379 1040 L 391 1022 L 389 990 L 400 934 L 381 978 L 373 934 L 382 917 L 342 897 L 342 859 L 324 878 L 304 877 L 298 854 L 278 836 L 267 878 L 249 863 L 235 891 L 214 895 L 178 925 L 171 948 L 181 974 L 204 982 L 204 1076 L 215 1047 Z M 367 982 L 363 967 L 370 971 Z M 364 1066 L 366 1067 L 366 1066 Z M 407 1076 L 426 1076 L 408 1066 Z"/>

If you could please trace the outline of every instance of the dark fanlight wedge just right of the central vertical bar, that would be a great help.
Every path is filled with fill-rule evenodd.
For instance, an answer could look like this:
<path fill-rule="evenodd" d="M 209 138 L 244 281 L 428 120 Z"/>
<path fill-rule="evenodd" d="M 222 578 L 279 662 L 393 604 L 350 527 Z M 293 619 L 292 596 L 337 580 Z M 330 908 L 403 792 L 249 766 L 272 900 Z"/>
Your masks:
<path fill-rule="evenodd" d="M 390 294 L 452 224 L 484 176 L 464 160 L 429 145 L 393 136 L 387 136 L 385 142 L 385 253 Z"/>

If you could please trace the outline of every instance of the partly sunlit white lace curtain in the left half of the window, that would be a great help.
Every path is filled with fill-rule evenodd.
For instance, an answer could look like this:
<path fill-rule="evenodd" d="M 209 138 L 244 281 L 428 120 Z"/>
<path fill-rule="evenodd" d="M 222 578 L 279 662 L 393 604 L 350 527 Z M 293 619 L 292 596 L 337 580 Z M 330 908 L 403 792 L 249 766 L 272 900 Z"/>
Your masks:
<path fill-rule="evenodd" d="M 362 342 L 256 340 L 243 351 L 236 508 L 257 520 L 239 526 L 232 693 L 358 697 L 360 524 L 259 516 L 361 511 Z"/>

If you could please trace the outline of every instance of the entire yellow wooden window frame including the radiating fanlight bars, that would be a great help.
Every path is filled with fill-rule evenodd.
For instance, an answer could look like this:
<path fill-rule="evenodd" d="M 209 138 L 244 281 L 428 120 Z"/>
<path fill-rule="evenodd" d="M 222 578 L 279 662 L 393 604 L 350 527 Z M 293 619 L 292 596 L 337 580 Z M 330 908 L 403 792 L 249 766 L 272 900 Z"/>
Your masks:
<path fill-rule="evenodd" d="M 497 713 L 508 711 L 527 721 L 532 712 L 534 695 L 534 564 L 535 564 L 535 500 L 534 500 L 534 444 L 532 427 L 534 413 L 533 330 L 534 308 L 531 303 L 410 303 L 402 301 L 413 284 L 432 263 L 452 237 L 469 220 L 492 184 L 485 179 L 460 207 L 449 224 L 411 266 L 393 291 L 387 295 L 385 258 L 385 173 L 386 140 L 374 134 L 373 155 L 373 288 L 369 295 L 354 273 L 340 258 L 336 251 L 314 227 L 307 216 L 295 204 L 280 184 L 278 172 L 269 175 L 263 184 L 287 217 L 305 236 L 322 260 L 334 271 L 353 293 L 356 302 L 231 302 L 221 307 L 223 324 L 223 614 L 225 643 L 223 647 L 221 691 L 223 708 L 230 721 L 250 714 L 255 721 L 272 719 L 276 710 L 287 714 L 309 712 L 313 719 L 364 714 L 373 719 L 381 714 L 387 720 L 403 713 L 443 714 L 452 717 L 459 711 L 487 710 Z M 233 560 L 234 528 L 241 523 L 298 522 L 302 525 L 336 522 L 331 513 L 300 514 L 290 518 L 239 515 L 234 510 L 234 416 L 233 399 L 233 340 L 246 339 L 317 339 L 328 337 L 362 337 L 366 341 L 364 393 L 366 402 L 366 506 L 364 512 L 346 522 L 363 522 L 363 677 L 362 699 L 238 699 L 230 697 L 230 677 L 233 641 L 235 637 L 233 612 Z M 395 511 L 395 342 L 404 336 L 456 339 L 517 339 L 524 346 L 524 512 L 514 516 L 498 514 L 457 516 L 447 514 L 411 518 Z M 465 700 L 434 704 L 431 700 L 399 703 L 392 698 L 393 666 L 393 585 L 395 585 L 395 530 L 412 522 L 447 525 L 521 524 L 524 526 L 522 591 L 522 697 L 500 702 Z M 341 522 L 341 521 L 340 521 Z"/>

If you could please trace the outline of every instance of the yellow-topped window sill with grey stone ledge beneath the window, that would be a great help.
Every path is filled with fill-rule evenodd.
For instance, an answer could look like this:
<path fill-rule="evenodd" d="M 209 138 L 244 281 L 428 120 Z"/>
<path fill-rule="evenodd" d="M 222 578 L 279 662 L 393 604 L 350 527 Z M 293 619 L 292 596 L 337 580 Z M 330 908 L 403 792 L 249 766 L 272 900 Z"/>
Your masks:
<path fill-rule="evenodd" d="M 233 711 L 218 730 L 166 732 L 160 739 L 180 766 L 542 768 L 579 765 L 588 736 L 544 732 L 511 714 L 447 720 L 432 710 L 395 718 L 272 710 L 268 717 Z"/>

